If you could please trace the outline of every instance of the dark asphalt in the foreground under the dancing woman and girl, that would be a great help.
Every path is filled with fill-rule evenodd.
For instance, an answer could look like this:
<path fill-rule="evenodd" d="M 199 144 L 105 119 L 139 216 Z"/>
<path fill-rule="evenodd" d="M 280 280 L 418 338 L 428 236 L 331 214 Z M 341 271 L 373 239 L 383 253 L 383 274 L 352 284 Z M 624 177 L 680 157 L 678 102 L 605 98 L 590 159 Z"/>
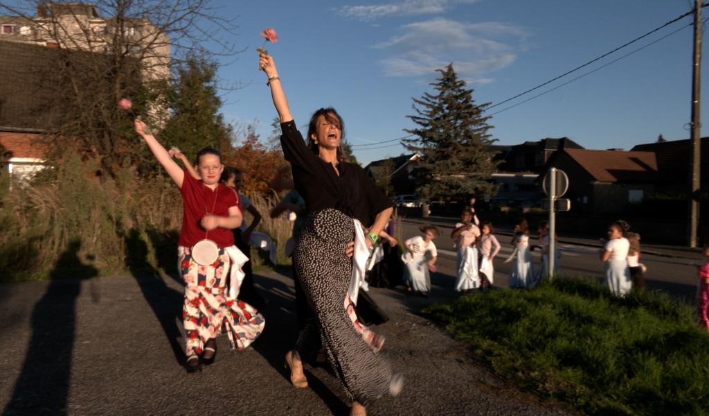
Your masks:
<path fill-rule="evenodd" d="M 452 277 L 448 277 L 451 280 Z M 442 280 L 443 281 L 443 280 Z M 311 388 L 296 390 L 282 356 L 294 339 L 291 280 L 257 275 L 269 300 L 267 324 L 242 354 L 218 341 L 202 373 L 181 366 L 182 287 L 157 273 L 0 285 L 0 409 L 4 415 L 343 415 L 339 383 L 309 368 Z M 384 354 L 406 378 L 398 398 L 372 415 L 549 415 L 540 403 L 491 375 L 468 349 L 420 317 L 425 304 L 456 296 L 436 285 L 424 299 L 372 289 L 391 314 L 378 327 Z"/>

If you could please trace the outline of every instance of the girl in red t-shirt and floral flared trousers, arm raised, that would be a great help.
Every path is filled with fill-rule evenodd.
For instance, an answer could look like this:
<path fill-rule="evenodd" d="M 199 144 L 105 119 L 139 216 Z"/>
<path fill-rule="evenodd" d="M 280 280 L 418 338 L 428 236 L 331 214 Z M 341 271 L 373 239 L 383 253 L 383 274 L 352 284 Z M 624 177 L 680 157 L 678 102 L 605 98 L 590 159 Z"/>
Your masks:
<path fill-rule="evenodd" d="M 182 319 L 186 332 L 187 371 L 211 364 L 216 356 L 216 337 L 228 329 L 233 348 L 244 349 L 259 336 L 264 318 L 253 307 L 230 295 L 226 289 L 232 263 L 240 270 L 243 255 L 234 246 L 231 229 L 241 225 L 242 213 L 235 192 L 219 183 L 224 170 L 218 150 L 204 148 L 197 153 L 197 180 L 172 160 L 143 121 L 135 120 L 135 132 L 143 137 L 157 161 L 165 168 L 182 194 L 182 229 L 179 234 L 179 271 L 184 280 Z M 192 247 L 210 240 L 218 247 L 213 263 L 198 264 Z M 236 260 L 236 262 L 234 261 Z M 204 261 L 202 263 L 205 263 Z M 232 270 L 238 273 L 237 269 Z M 201 361 L 201 362 L 200 362 Z"/>

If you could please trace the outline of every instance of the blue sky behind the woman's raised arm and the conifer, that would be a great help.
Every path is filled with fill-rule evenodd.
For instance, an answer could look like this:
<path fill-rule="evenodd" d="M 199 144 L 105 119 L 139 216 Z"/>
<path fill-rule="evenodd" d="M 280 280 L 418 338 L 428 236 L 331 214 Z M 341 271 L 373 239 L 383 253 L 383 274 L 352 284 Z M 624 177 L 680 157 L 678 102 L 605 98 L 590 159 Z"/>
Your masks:
<path fill-rule="evenodd" d="M 275 111 L 255 48 L 267 45 L 296 123 L 320 106 L 345 118 L 354 155 L 366 164 L 405 151 L 391 141 L 413 126 L 412 97 L 430 92 L 435 69 L 453 62 L 478 103 L 501 102 L 623 45 L 691 9 L 689 0 L 396 0 L 223 2 L 245 51 L 220 70 L 242 88 L 225 93 L 229 121 L 256 121 L 262 137 Z M 704 9 L 705 16 L 709 10 Z M 691 16 L 575 72 L 582 75 L 686 26 Z M 705 48 L 706 50 L 706 48 Z M 567 136 L 586 148 L 625 148 L 687 138 L 692 28 L 530 102 L 495 114 L 500 144 Z M 709 65 L 709 62 L 708 62 Z M 571 77 L 537 90 L 544 92 Z M 709 84 L 703 82 L 705 88 Z M 522 99 L 531 97 L 529 94 Z M 521 99 L 492 109 L 493 113 Z M 703 119 L 709 105 L 704 106 Z M 302 130 L 302 128 L 301 128 Z M 703 132 L 709 135 L 709 132 Z M 382 147 L 387 146 L 389 147 Z M 370 150 L 367 150 L 370 148 Z"/>

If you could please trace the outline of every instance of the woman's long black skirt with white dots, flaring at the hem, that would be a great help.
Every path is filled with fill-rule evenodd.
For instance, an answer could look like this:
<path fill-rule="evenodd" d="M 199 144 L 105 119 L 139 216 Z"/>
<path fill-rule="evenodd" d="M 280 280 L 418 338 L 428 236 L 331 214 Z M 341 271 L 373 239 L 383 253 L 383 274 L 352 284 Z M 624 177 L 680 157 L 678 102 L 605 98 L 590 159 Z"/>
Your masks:
<path fill-rule="evenodd" d="M 308 217 L 293 258 L 316 319 L 306 324 L 296 350 L 301 356 L 311 352 L 319 333 L 347 397 L 366 406 L 389 392 L 393 374 L 389 363 L 357 332 L 345 308 L 352 276 L 352 259 L 346 251 L 353 239 L 354 222 L 336 209 Z"/>

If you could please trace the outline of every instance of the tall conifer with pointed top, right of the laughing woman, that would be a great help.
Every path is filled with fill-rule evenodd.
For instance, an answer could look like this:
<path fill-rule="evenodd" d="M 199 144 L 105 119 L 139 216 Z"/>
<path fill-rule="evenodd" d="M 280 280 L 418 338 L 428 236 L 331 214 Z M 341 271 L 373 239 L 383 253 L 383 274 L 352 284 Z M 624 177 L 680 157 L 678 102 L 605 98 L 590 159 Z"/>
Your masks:
<path fill-rule="evenodd" d="M 430 85 L 437 93 L 413 99 L 417 115 L 407 116 L 418 128 L 406 129 L 414 138 L 404 139 L 406 148 L 422 155 L 413 174 L 416 192 L 431 200 L 459 199 L 464 194 L 492 195 L 491 181 L 497 163 L 488 133 L 489 116 L 482 112 L 489 103 L 475 104 L 473 89 L 459 80 L 453 64 L 440 72 Z"/>

